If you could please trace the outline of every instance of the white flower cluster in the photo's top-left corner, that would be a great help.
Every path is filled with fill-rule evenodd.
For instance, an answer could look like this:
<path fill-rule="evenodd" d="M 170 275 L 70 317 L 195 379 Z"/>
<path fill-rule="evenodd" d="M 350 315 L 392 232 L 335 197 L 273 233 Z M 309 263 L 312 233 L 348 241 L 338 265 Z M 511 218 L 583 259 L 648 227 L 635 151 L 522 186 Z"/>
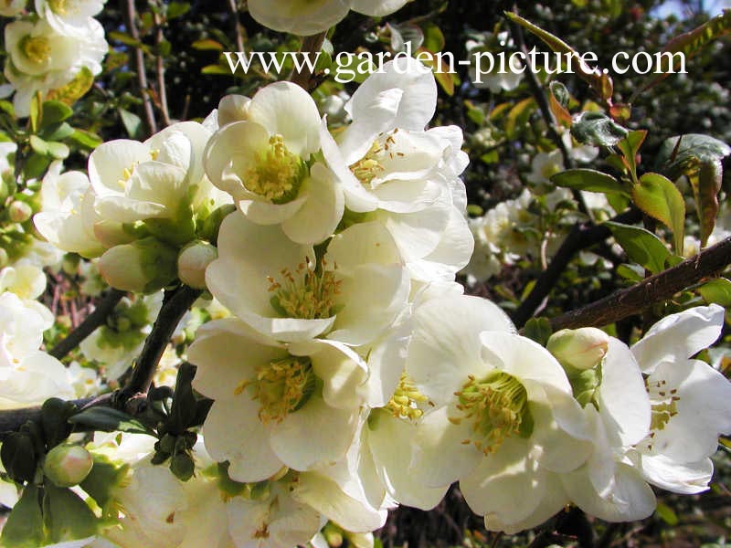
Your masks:
<path fill-rule="evenodd" d="M 35 0 L 36 13 L 5 26 L 5 78 L 15 90 L 16 116 L 25 117 L 33 96 L 58 90 L 79 72 L 101 73 L 109 46 L 94 19 L 106 0 Z M 0 12 L 16 16 L 25 0 L 5 3 Z"/>

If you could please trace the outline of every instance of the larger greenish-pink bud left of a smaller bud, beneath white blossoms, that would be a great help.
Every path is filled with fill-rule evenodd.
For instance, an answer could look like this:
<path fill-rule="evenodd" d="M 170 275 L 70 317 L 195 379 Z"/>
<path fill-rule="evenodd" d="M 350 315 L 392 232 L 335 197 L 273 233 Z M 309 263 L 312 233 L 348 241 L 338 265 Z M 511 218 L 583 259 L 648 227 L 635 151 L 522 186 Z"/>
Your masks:
<path fill-rule="evenodd" d="M 161 290 L 175 279 L 177 251 L 155 237 L 115 246 L 99 259 L 99 271 L 112 288 L 137 293 Z"/>

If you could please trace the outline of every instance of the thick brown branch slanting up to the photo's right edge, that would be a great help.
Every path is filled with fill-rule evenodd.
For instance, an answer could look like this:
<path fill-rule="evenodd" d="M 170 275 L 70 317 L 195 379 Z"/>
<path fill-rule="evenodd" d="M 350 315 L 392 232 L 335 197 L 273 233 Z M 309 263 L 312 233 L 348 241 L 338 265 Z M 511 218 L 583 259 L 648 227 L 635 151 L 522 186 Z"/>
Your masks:
<path fill-rule="evenodd" d="M 731 237 L 706 248 L 695 257 L 683 260 L 672 269 L 643 279 L 632 287 L 618 291 L 575 311 L 551 320 L 554 331 L 578 327 L 601 327 L 640 313 L 655 302 L 668 300 L 678 291 L 717 274 L 731 264 Z"/>

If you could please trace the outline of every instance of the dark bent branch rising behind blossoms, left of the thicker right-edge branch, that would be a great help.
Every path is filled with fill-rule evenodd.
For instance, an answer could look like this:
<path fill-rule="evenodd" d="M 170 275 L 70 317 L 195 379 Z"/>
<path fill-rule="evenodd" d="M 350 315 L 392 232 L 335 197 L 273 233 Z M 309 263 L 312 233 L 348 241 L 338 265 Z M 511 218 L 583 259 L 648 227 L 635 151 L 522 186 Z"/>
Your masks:
<path fill-rule="evenodd" d="M 614 216 L 611 220 L 616 223 L 631 225 L 640 219 L 640 211 L 630 209 L 630 211 Z M 518 309 L 514 311 L 513 321 L 515 325 L 523 327 L 525 322 L 535 314 L 535 311 L 540 308 L 548 294 L 556 286 L 556 282 L 561 277 L 561 274 L 578 251 L 599 244 L 599 242 L 610 236 L 611 232 L 609 228 L 604 225 L 595 225 L 591 221 L 575 225 L 571 229 L 571 232 L 568 233 L 566 239 L 561 243 L 561 247 L 556 251 L 554 258 L 551 259 L 548 268 L 541 272 L 533 290 L 531 290 Z"/>

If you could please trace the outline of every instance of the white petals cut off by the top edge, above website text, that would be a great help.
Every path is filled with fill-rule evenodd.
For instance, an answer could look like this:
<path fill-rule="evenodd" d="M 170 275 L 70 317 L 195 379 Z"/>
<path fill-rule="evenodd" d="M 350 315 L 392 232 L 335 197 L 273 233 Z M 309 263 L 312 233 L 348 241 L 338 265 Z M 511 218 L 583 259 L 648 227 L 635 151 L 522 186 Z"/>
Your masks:
<path fill-rule="evenodd" d="M 308 36 L 339 23 L 348 10 L 366 16 L 382 17 L 394 13 L 407 0 L 253 0 L 249 13 L 261 25 L 280 32 Z"/>

